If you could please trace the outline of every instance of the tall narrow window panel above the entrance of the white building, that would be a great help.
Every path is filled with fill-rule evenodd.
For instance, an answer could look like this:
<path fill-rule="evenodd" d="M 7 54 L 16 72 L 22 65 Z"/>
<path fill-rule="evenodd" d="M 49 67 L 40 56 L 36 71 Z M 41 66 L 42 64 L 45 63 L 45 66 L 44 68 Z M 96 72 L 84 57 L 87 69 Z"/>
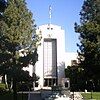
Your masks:
<path fill-rule="evenodd" d="M 57 41 L 44 39 L 44 78 L 57 78 Z M 51 82 L 49 82 L 51 85 Z"/>

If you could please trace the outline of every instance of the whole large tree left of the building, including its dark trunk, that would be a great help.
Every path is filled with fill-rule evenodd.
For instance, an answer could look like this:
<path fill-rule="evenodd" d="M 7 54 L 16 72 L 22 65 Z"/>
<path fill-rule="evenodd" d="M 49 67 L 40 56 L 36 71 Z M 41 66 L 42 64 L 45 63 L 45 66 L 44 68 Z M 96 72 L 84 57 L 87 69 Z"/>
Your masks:
<path fill-rule="evenodd" d="M 25 0 L 7 0 L 0 20 L 0 72 L 13 81 L 14 100 L 17 100 L 16 83 L 22 68 L 37 61 L 39 36 L 35 32 L 32 13 Z M 33 38 L 32 38 L 33 36 Z M 22 55 L 20 56 L 20 50 Z M 25 73 L 23 73 L 25 74 Z"/>

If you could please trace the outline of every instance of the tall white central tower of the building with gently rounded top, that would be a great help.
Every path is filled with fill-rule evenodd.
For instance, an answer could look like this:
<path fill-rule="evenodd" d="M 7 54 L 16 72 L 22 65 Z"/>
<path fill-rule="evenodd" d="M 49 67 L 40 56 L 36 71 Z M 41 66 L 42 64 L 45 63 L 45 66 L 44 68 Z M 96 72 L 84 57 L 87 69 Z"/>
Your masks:
<path fill-rule="evenodd" d="M 65 31 L 57 25 L 39 26 L 41 45 L 38 47 L 38 61 L 35 66 L 38 75 L 38 88 L 60 85 L 65 70 Z"/>

